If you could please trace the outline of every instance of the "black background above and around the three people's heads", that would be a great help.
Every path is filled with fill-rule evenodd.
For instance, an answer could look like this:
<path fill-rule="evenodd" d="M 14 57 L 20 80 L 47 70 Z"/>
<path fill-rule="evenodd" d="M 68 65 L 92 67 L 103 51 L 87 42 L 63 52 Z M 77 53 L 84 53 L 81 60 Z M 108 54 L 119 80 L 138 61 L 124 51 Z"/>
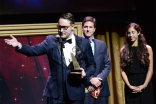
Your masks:
<path fill-rule="evenodd" d="M 62 13 L 71 12 L 76 22 L 85 16 L 97 19 L 97 32 L 138 23 L 154 53 L 152 78 L 156 98 L 156 2 L 155 0 L 0 0 L 0 24 L 57 23 Z"/>

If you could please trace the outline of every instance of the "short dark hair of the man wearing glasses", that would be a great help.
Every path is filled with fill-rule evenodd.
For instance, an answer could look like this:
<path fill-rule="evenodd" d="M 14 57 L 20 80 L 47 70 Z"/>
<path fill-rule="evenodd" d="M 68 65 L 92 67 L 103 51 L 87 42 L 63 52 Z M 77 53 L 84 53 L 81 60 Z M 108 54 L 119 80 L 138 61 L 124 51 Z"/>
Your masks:
<path fill-rule="evenodd" d="M 75 23 L 74 15 L 71 14 L 71 13 L 64 13 L 64 14 L 62 14 L 60 16 L 60 18 L 69 20 L 70 24 L 74 24 Z"/>

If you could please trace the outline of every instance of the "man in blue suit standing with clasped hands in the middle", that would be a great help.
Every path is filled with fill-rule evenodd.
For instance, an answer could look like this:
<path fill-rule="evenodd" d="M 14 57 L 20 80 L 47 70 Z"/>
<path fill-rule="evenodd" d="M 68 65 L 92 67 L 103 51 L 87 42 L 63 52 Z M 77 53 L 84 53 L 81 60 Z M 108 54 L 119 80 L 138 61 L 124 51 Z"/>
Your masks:
<path fill-rule="evenodd" d="M 94 39 L 95 30 L 96 19 L 85 17 L 82 22 L 83 37 L 90 41 L 96 63 L 96 72 L 91 76 L 90 85 L 86 88 L 85 104 L 108 104 L 110 92 L 107 76 L 110 73 L 111 61 L 105 42 Z"/>

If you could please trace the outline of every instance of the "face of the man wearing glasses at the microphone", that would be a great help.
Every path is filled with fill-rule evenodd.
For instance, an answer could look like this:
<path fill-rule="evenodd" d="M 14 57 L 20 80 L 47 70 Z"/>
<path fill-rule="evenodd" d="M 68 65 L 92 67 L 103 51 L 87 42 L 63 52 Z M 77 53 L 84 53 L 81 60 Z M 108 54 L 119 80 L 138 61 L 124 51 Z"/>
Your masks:
<path fill-rule="evenodd" d="M 69 20 L 60 18 L 58 21 L 58 33 L 61 38 L 69 39 L 72 36 L 74 24 L 70 24 Z"/>

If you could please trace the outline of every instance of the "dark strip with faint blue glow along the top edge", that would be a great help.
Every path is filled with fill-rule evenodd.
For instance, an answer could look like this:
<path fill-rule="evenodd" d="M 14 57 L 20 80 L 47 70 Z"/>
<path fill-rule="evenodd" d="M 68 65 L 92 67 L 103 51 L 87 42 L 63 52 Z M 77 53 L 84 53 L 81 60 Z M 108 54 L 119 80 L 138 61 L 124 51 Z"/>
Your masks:
<path fill-rule="evenodd" d="M 135 10 L 133 0 L 0 0 L 0 14 Z"/>

